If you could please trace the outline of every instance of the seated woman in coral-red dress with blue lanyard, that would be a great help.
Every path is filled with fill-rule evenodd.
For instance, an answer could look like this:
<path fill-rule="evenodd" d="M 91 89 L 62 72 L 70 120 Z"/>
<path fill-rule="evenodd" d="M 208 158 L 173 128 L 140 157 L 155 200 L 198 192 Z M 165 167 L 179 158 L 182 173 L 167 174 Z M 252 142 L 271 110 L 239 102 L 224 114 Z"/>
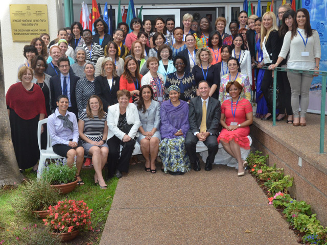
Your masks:
<path fill-rule="evenodd" d="M 223 127 L 218 136 L 225 151 L 239 163 L 238 176 L 244 175 L 247 161 L 242 159 L 241 149 L 250 149 L 248 135 L 253 121 L 251 103 L 241 97 L 242 85 L 231 81 L 226 86 L 226 91 L 231 99 L 225 100 L 221 105 L 220 124 Z"/>

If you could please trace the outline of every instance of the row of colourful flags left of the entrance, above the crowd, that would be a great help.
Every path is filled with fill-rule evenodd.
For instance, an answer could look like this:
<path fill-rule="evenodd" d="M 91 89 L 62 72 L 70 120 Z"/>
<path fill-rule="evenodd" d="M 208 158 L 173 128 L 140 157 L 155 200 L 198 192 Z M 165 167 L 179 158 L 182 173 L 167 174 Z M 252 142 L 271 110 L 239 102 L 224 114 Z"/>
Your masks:
<path fill-rule="evenodd" d="M 138 18 L 142 20 L 142 9 L 143 6 L 141 6 L 141 10 L 138 13 Z M 132 18 L 136 17 L 135 14 L 135 8 L 134 8 L 134 1 L 130 0 L 128 4 L 128 9 L 125 9 L 125 6 L 123 7 L 123 10 L 121 9 L 121 1 L 119 0 L 118 5 L 118 21 L 117 24 L 120 22 L 126 22 L 130 23 Z M 81 15 L 80 15 L 80 23 L 82 24 L 83 29 L 89 29 L 95 34 L 93 24 L 98 19 L 102 18 L 108 25 L 108 34 L 111 35 L 111 33 L 114 30 L 114 27 L 112 26 L 112 6 L 109 5 L 108 9 L 108 3 L 106 2 L 104 5 L 104 12 L 102 15 L 100 4 L 97 4 L 96 0 L 92 0 L 92 11 L 89 13 L 87 4 L 84 2 L 82 3 L 82 9 L 81 9 Z M 129 29 L 129 32 L 131 32 L 131 29 Z"/>

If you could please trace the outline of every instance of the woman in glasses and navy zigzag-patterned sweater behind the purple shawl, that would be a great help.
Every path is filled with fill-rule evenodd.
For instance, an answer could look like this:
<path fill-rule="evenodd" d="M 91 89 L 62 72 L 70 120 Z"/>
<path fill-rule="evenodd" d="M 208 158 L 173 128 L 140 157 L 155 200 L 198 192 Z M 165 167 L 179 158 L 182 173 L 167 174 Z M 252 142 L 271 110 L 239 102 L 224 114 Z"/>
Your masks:
<path fill-rule="evenodd" d="M 186 37 L 187 39 L 188 37 Z M 174 66 L 176 72 L 168 74 L 165 93 L 168 97 L 168 89 L 171 85 L 176 85 L 180 89 L 179 99 L 190 103 L 190 100 L 196 96 L 196 83 L 194 76 L 191 72 L 185 71 L 186 59 L 184 56 L 176 56 L 174 59 Z M 168 98 L 167 98 L 168 99 Z"/>

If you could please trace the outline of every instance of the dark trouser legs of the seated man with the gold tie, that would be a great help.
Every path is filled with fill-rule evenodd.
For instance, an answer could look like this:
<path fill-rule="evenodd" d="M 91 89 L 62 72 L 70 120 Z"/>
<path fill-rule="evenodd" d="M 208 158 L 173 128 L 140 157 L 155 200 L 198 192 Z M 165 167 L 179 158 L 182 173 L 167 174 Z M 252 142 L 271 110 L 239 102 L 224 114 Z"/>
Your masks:
<path fill-rule="evenodd" d="M 199 160 L 196 156 L 196 144 L 198 143 L 198 137 L 194 136 L 191 130 L 186 133 L 185 138 L 185 148 L 191 163 L 195 163 L 196 160 Z M 208 158 L 209 163 L 214 163 L 215 156 L 218 152 L 218 141 L 216 135 L 209 135 L 205 141 L 203 141 L 205 146 L 208 148 Z"/>

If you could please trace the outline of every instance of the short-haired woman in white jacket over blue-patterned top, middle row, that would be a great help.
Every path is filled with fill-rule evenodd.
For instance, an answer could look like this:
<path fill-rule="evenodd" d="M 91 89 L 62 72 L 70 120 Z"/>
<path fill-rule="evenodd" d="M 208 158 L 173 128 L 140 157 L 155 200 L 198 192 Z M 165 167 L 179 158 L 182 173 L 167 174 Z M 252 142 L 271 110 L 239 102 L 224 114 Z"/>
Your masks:
<path fill-rule="evenodd" d="M 156 57 L 149 57 L 147 60 L 148 73 L 143 76 L 141 86 L 150 85 L 153 90 L 153 98 L 160 105 L 165 98 L 165 80 L 164 76 L 158 73 L 159 61 Z"/>

